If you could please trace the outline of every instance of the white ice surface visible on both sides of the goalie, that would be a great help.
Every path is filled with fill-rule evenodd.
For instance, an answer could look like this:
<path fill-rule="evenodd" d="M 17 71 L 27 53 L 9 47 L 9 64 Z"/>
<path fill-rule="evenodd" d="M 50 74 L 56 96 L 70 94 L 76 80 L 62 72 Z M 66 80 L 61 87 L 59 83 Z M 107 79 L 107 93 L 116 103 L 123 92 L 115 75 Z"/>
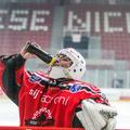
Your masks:
<path fill-rule="evenodd" d="M 130 102 L 112 102 L 117 108 L 117 129 L 130 129 Z M 18 108 L 11 101 L 0 100 L 0 126 L 18 126 Z"/>

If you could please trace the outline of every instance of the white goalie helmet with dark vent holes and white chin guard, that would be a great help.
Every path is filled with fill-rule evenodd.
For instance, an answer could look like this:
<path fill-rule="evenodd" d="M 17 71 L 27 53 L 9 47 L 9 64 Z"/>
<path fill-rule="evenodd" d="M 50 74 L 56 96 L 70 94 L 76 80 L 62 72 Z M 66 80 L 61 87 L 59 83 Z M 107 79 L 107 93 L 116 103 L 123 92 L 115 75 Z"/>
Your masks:
<path fill-rule="evenodd" d="M 53 66 L 50 76 L 52 78 L 81 79 L 86 73 L 86 61 L 83 56 L 73 48 L 62 49 L 57 54 L 66 55 L 72 61 L 72 65 L 67 68 Z"/>

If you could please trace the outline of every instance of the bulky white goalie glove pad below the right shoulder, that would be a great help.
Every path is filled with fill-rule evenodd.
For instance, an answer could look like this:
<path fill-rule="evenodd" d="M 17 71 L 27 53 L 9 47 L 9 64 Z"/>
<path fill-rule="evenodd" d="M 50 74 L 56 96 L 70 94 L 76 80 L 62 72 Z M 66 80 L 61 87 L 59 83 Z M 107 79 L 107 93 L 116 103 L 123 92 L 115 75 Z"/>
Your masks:
<path fill-rule="evenodd" d="M 112 106 L 83 100 L 82 110 L 76 113 L 86 130 L 114 130 L 117 112 Z"/>

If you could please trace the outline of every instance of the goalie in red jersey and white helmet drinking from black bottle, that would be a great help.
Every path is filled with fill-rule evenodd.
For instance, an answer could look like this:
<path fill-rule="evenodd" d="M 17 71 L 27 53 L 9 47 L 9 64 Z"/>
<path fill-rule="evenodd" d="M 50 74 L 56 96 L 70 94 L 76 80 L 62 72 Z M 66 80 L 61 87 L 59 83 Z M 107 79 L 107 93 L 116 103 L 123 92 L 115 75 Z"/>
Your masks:
<path fill-rule="evenodd" d="M 48 73 L 27 70 L 25 63 L 38 56 Z M 0 56 L 0 87 L 18 106 L 21 126 L 114 130 L 117 112 L 100 88 L 81 81 L 86 61 L 75 49 L 54 56 L 27 42 L 21 52 Z"/>

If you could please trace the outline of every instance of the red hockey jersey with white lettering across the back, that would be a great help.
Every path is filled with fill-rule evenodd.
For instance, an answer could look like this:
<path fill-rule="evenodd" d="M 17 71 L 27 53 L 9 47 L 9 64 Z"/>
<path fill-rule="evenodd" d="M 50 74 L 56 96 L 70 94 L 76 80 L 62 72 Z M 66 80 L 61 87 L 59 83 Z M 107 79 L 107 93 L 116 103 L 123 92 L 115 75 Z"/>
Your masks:
<path fill-rule="evenodd" d="M 0 86 L 3 64 L 0 64 Z M 21 126 L 72 127 L 76 107 L 82 100 L 108 104 L 101 90 L 93 84 L 68 80 L 57 86 L 55 79 L 42 72 L 30 73 L 21 66 L 15 70 L 15 81 L 20 87 L 18 108 Z M 61 88 L 60 88 L 61 87 Z"/>

